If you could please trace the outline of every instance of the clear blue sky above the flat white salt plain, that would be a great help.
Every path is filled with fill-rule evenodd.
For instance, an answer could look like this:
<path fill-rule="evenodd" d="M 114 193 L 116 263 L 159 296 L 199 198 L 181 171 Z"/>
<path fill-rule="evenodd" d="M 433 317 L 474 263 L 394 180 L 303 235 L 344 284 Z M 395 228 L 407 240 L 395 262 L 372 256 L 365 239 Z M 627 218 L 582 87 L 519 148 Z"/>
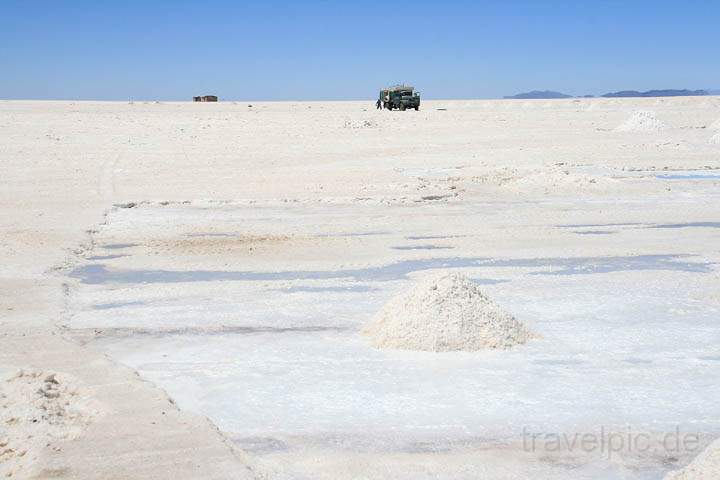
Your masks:
<path fill-rule="evenodd" d="M 720 0 L 0 0 L 0 98 L 720 88 Z"/>

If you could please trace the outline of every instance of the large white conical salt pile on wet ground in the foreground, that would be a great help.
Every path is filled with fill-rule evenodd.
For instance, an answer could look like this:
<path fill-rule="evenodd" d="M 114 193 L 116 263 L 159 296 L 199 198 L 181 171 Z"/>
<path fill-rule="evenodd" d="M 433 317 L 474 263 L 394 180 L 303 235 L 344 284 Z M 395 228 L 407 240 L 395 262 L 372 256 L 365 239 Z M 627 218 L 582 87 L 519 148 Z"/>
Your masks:
<path fill-rule="evenodd" d="M 431 276 L 392 298 L 364 332 L 377 348 L 506 349 L 534 337 L 465 275 Z"/>

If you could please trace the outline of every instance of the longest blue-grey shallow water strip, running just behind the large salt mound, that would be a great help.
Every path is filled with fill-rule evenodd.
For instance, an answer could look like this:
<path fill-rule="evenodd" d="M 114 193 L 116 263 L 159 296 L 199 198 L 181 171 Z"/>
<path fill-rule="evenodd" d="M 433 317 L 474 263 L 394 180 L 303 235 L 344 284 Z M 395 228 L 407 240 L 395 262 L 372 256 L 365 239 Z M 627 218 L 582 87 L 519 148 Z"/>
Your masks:
<path fill-rule="evenodd" d="M 450 257 L 402 260 L 379 267 L 347 270 L 298 270 L 280 272 L 221 270 L 126 270 L 107 269 L 103 264 L 78 267 L 69 273 L 86 284 L 143 284 L 211 281 L 329 280 L 352 278 L 357 281 L 403 280 L 421 270 L 482 267 L 553 268 L 530 275 L 584 275 L 632 270 L 709 272 L 707 262 L 682 261 L 692 255 L 636 255 L 625 257 L 520 258 Z"/>

